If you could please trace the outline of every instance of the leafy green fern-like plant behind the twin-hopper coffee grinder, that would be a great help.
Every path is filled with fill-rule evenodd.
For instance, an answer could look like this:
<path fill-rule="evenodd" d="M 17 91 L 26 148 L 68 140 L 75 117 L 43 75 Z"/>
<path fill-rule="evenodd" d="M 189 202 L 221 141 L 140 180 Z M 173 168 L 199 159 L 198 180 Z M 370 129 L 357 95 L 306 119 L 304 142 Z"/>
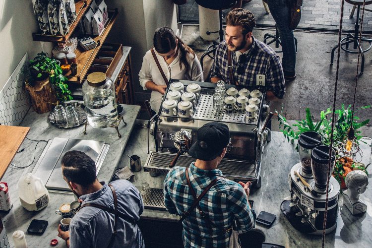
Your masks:
<path fill-rule="evenodd" d="M 347 132 L 351 125 L 353 124 L 355 130 L 355 142 L 364 142 L 361 140 L 362 135 L 361 131 L 358 130 L 360 127 L 367 125 L 370 120 L 365 120 L 360 122 L 360 118 L 355 116 L 356 113 L 363 109 L 369 109 L 371 105 L 363 106 L 354 110 L 354 117 L 352 119 L 352 108 L 349 105 L 345 108 L 345 105 L 341 105 L 341 109 L 335 111 L 335 125 L 333 131 L 333 148 L 336 150 L 336 165 L 333 170 L 333 175 L 339 183 L 343 183 L 347 173 L 351 170 L 363 170 L 365 173 L 368 172 L 363 164 L 357 163 L 352 158 L 343 156 L 342 146 L 344 141 L 347 138 Z M 320 121 L 314 122 L 313 116 L 310 113 L 310 109 L 306 108 L 306 119 L 296 121 L 295 124 L 289 124 L 286 118 L 283 116 L 283 110 L 281 113 L 278 113 L 279 120 L 279 129 L 284 134 L 285 139 L 288 141 L 294 142 L 297 140 L 301 133 L 306 131 L 315 131 L 318 132 L 323 137 L 323 144 L 330 145 L 331 142 L 331 128 L 332 128 L 332 111 L 331 108 L 328 108 L 325 111 L 320 112 Z M 298 146 L 295 147 L 298 151 Z"/>

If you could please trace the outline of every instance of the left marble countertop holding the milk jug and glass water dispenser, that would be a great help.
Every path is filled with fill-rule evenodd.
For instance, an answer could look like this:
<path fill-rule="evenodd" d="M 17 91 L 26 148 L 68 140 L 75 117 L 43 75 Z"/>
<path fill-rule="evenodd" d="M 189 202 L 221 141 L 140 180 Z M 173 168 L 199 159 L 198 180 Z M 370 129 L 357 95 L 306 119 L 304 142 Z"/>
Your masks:
<path fill-rule="evenodd" d="M 119 138 L 116 129 L 111 127 L 93 128 L 88 125 L 86 135 L 83 134 L 84 125 L 75 128 L 60 129 L 49 123 L 49 113 L 39 115 L 32 109 L 27 113 L 21 126 L 31 127 L 30 132 L 27 135 L 27 138 L 29 139 L 49 140 L 54 137 L 62 137 L 105 141 L 110 144 L 109 151 L 97 176 L 100 181 L 109 182 L 114 175 L 116 167 L 120 163 L 122 153 L 140 110 L 139 106 L 123 105 L 123 107 L 124 121 L 127 125 L 125 126 L 123 122 L 119 125 L 119 131 L 122 134 L 122 138 Z M 31 164 L 34 160 L 34 148 L 36 144 L 36 142 L 26 139 L 18 151 L 22 151 L 23 148 L 24 150 L 16 154 L 12 161 L 12 165 L 24 167 Z M 22 230 L 25 233 L 28 247 L 48 247 L 52 239 L 58 239 L 59 244 L 57 247 L 65 247 L 63 240 L 57 237 L 57 227 L 60 223 L 61 216 L 57 215 L 55 211 L 58 210 L 63 203 L 72 202 L 74 200 L 74 195 L 71 193 L 49 192 L 50 202 L 48 206 L 38 212 L 29 212 L 24 209 L 21 206 L 18 197 L 17 189 L 19 178 L 27 172 L 32 171 L 45 145 L 46 142 L 40 142 L 37 144 L 35 163 L 33 163 L 32 166 L 25 169 L 16 169 L 14 166 L 10 165 L 2 178 L 2 182 L 8 183 L 9 194 L 13 203 L 13 207 L 8 213 L 1 213 L 1 220 L 4 224 L 11 247 L 13 247 L 11 235 L 16 230 Z M 49 222 L 48 227 L 42 236 L 32 236 L 27 234 L 27 228 L 32 219 L 47 220 Z"/>

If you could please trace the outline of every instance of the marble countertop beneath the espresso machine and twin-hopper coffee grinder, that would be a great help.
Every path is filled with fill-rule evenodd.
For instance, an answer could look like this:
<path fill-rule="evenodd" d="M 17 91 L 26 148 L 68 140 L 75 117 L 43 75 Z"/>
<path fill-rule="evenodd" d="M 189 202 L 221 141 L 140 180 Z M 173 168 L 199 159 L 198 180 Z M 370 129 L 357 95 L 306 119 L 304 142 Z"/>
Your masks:
<path fill-rule="evenodd" d="M 131 138 L 124 150 L 121 165 L 129 163 L 126 155 L 138 155 L 142 166 L 146 161 L 147 154 L 147 129 L 135 127 Z M 153 136 L 150 136 L 150 150 L 155 150 Z M 287 177 L 288 172 L 295 164 L 300 162 L 298 152 L 294 145 L 285 141 L 281 132 L 272 132 L 271 142 L 264 149 L 261 178 L 262 186 L 252 189 L 249 199 L 254 200 L 254 209 L 258 213 L 262 210 L 276 215 L 276 220 L 270 228 L 256 224 L 266 235 L 266 242 L 290 247 L 321 247 L 322 237 L 303 234 L 294 229 L 286 217 L 280 211 L 280 204 L 284 198 L 290 195 Z M 372 162 L 371 148 L 364 145 L 365 164 Z M 361 199 L 367 204 L 367 212 L 361 216 L 353 216 L 343 205 L 342 194 L 338 203 L 338 219 L 335 231 L 326 235 L 325 247 L 371 247 L 372 244 L 372 170 L 369 168 L 370 185 L 367 191 L 361 195 Z M 151 177 L 147 172 L 136 172 L 131 181 L 135 186 L 141 187 L 144 182 L 150 187 L 162 188 L 165 175 Z M 141 218 L 153 220 L 178 221 L 179 217 L 166 211 L 145 209 Z"/>

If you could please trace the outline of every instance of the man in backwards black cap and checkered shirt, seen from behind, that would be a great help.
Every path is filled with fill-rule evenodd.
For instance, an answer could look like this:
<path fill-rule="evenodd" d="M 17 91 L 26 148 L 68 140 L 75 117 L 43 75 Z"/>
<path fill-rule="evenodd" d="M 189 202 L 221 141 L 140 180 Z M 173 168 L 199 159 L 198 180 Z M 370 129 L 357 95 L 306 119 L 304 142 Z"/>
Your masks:
<path fill-rule="evenodd" d="M 229 247 L 234 220 L 239 233 L 253 228 L 250 183 L 225 179 L 216 169 L 230 148 L 227 125 L 204 124 L 189 150 L 196 161 L 187 169 L 172 168 L 164 181 L 165 205 L 170 213 L 181 215 L 186 248 Z M 195 200 L 199 196 L 201 199 Z"/>

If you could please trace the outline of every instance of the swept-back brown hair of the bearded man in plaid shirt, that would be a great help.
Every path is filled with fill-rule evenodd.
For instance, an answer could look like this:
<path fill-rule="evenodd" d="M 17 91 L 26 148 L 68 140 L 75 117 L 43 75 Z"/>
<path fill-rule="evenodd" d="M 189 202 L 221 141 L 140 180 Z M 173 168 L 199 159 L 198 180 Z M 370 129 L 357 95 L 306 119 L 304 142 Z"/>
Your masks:
<path fill-rule="evenodd" d="M 247 9 L 235 8 L 226 16 L 226 26 L 242 26 L 244 36 L 252 32 L 255 25 L 254 15 Z"/>

